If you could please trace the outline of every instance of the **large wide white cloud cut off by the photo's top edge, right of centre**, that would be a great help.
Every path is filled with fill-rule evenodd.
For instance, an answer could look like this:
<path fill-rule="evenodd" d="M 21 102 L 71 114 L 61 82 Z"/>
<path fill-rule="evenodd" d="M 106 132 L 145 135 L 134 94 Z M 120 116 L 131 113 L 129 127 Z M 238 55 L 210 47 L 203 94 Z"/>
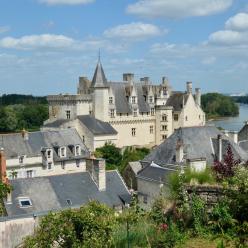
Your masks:
<path fill-rule="evenodd" d="M 225 11 L 232 2 L 233 0 L 139 0 L 130 4 L 127 12 L 149 18 L 207 16 Z"/>

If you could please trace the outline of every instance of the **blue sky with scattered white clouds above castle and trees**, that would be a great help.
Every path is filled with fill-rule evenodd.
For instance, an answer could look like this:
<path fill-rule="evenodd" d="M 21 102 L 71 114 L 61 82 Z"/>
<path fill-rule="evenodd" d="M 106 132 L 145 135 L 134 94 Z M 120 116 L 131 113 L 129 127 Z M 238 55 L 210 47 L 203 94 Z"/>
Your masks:
<path fill-rule="evenodd" d="M 99 49 L 109 81 L 248 93 L 248 1 L 0 1 L 0 95 L 74 94 Z"/>

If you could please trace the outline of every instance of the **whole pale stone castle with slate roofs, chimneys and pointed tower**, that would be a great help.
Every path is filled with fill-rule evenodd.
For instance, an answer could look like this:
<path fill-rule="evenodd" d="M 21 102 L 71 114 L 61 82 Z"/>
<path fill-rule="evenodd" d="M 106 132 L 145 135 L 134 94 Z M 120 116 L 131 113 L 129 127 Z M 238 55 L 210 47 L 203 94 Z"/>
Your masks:
<path fill-rule="evenodd" d="M 175 129 L 204 126 L 200 89 L 175 92 L 167 78 L 152 84 L 123 74 L 121 82 L 106 79 L 100 60 L 92 81 L 79 78 L 77 95 L 48 96 L 49 120 L 44 130 L 76 128 L 86 146 L 94 151 L 105 142 L 118 147 L 161 144 Z"/>

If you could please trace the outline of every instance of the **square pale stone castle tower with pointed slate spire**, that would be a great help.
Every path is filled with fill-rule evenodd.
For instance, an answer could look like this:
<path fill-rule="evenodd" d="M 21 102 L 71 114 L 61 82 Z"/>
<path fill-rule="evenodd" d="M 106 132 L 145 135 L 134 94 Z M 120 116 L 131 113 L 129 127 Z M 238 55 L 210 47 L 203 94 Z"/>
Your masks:
<path fill-rule="evenodd" d="M 108 121 L 108 83 L 102 68 L 100 57 L 91 82 L 93 89 L 93 113 L 96 119 Z"/>

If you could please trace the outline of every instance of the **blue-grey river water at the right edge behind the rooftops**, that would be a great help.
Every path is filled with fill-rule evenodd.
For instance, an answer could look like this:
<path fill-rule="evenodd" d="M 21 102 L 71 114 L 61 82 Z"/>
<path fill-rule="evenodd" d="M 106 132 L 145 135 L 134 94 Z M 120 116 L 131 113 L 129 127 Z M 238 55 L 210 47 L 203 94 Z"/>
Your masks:
<path fill-rule="evenodd" d="M 248 121 L 248 104 L 240 104 L 239 116 L 220 118 L 208 121 L 207 124 L 222 127 L 229 131 L 239 131 L 244 126 L 245 121 Z"/>

